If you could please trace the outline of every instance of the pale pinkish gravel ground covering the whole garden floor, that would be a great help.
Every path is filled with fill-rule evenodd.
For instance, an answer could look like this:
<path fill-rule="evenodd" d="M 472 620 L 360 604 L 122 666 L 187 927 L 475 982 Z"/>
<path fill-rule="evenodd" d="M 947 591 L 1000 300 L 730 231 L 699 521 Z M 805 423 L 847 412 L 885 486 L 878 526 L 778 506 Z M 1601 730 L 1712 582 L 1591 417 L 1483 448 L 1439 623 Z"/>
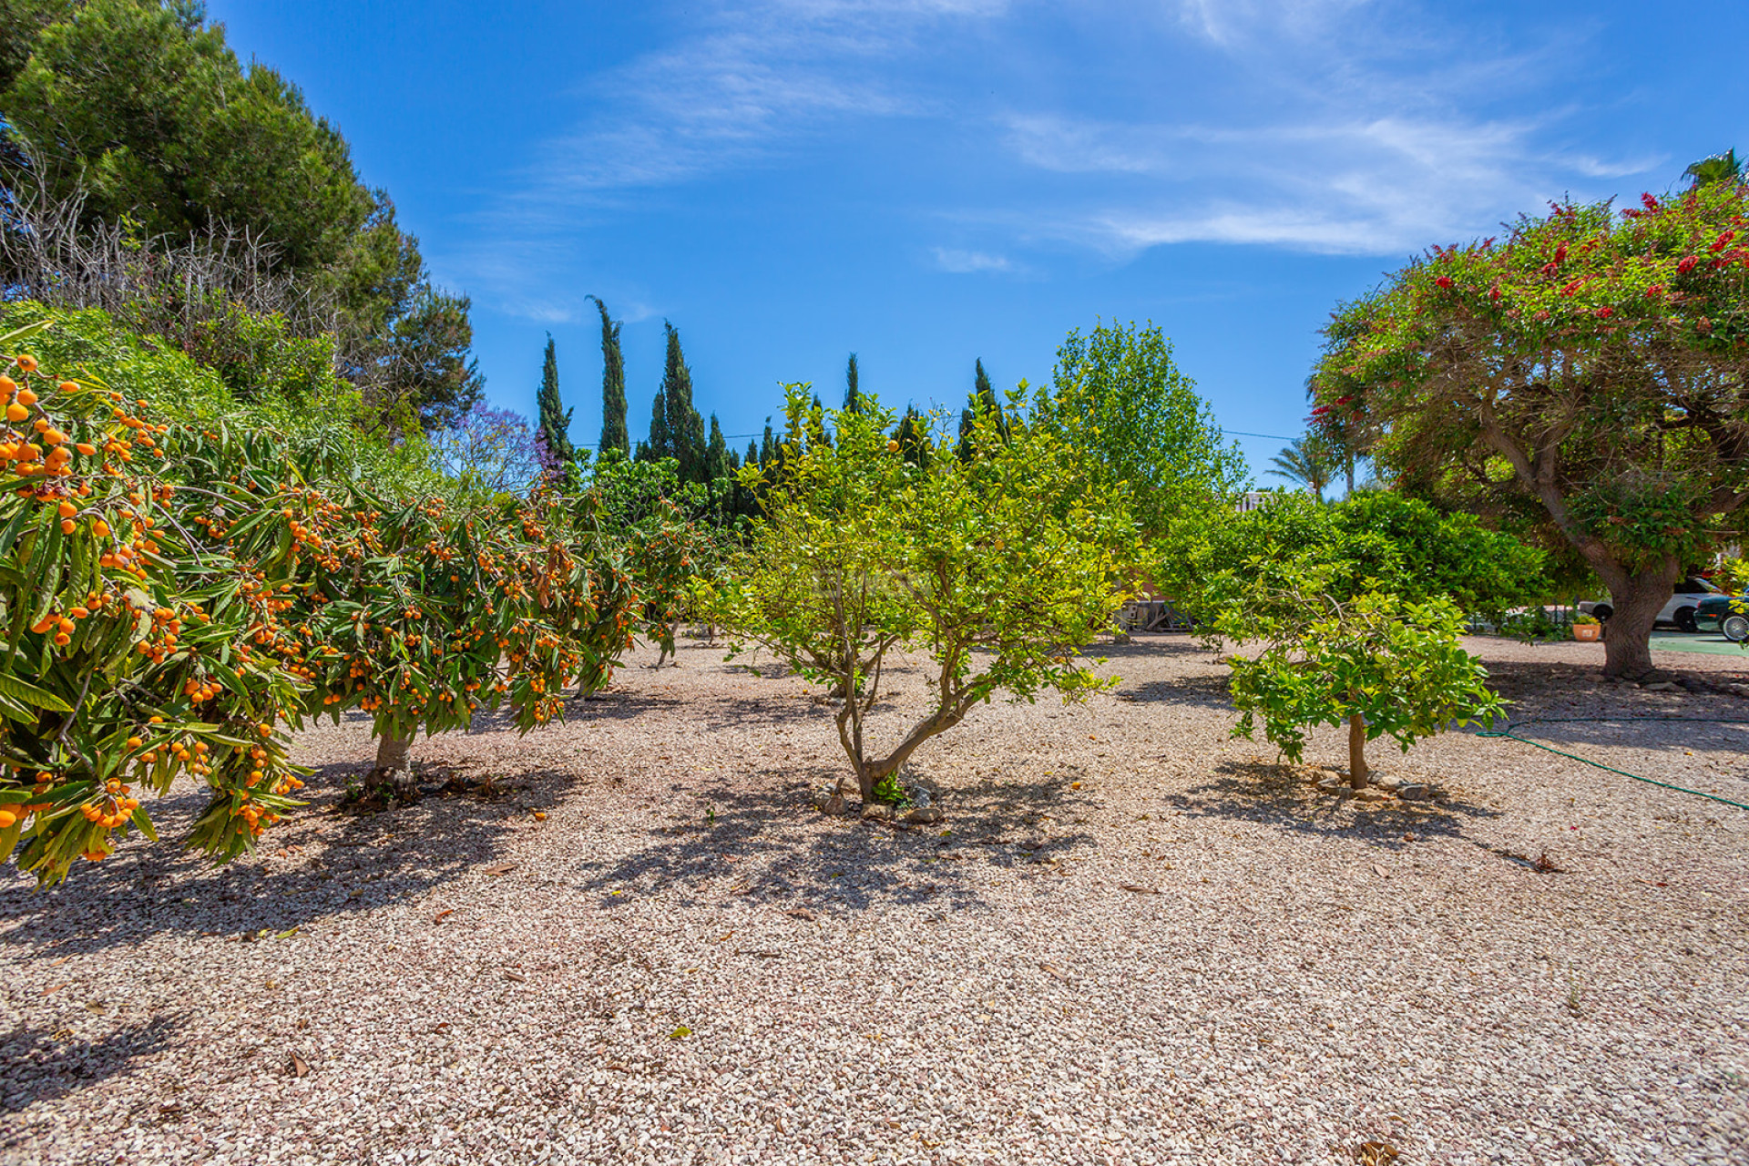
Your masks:
<path fill-rule="evenodd" d="M 1707 718 L 1527 734 L 1749 801 L 1749 701 L 1473 647 L 1518 717 Z M 362 722 L 310 732 L 257 857 L 0 876 L 0 1157 L 1746 1161 L 1749 811 L 1473 734 L 1375 746 L 1443 801 L 1338 799 L 1184 638 L 1105 650 L 1114 694 L 925 746 L 913 830 L 813 811 L 831 710 L 721 649 L 420 741 L 399 813 L 336 811 Z"/>

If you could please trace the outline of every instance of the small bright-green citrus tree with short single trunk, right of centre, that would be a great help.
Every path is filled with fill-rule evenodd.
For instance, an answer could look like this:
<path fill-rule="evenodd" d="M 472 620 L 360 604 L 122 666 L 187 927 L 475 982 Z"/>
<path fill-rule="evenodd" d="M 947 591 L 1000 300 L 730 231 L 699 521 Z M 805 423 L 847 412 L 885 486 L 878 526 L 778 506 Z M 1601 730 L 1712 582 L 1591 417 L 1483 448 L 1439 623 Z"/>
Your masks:
<path fill-rule="evenodd" d="M 1348 783 L 1366 785 L 1366 743 L 1392 738 L 1403 752 L 1452 725 L 1495 717 L 1502 704 L 1487 670 L 1459 643 L 1462 615 L 1448 603 L 1415 603 L 1390 591 L 1333 598 L 1329 566 L 1252 559 L 1254 582 L 1230 607 L 1221 633 L 1263 642 L 1233 656 L 1233 736 L 1265 736 L 1298 762 L 1307 729 L 1348 729 Z"/>

